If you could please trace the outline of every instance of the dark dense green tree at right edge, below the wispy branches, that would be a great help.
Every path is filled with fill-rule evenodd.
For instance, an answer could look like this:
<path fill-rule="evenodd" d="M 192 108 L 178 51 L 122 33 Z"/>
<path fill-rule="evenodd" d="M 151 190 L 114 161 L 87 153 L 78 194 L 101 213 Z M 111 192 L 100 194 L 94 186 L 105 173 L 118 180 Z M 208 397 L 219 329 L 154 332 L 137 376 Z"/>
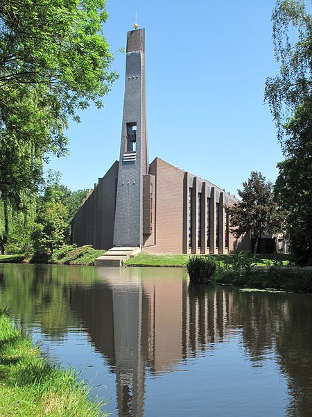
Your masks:
<path fill-rule="evenodd" d="M 300 265 L 312 264 L 312 111 L 297 108 L 285 125 L 296 146 L 293 154 L 278 164 L 275 193 L 288 213 L 286 229 L 291 251 Z"/>

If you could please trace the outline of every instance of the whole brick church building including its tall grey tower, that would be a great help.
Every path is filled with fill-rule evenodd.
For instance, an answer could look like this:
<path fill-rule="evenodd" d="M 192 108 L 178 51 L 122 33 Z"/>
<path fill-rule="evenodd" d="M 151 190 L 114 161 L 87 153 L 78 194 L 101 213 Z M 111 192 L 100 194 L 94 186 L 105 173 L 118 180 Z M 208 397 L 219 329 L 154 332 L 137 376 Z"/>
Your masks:
<path fill-rule="evenodd" d="M 148 161 L 145 30 L 127 33 L 119 161 L 72 220 L 72 242 L 96 249 L 139 247 L 152 254 L 228 254 L 250 249 L 229 233 L 225 206 L 237 200 L 171 163 Z"/>

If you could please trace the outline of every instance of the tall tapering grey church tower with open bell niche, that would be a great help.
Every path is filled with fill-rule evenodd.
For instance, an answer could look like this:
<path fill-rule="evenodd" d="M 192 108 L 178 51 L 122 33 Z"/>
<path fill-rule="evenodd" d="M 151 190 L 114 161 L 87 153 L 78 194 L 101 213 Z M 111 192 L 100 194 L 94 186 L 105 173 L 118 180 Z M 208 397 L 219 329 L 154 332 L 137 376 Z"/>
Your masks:
<path fill-rule="evenodd" d="M 148 174 L 145 30 L 127 33 L 125 97 L 116 193 L 114 245 L 143 245 L 143 175 Z"/>

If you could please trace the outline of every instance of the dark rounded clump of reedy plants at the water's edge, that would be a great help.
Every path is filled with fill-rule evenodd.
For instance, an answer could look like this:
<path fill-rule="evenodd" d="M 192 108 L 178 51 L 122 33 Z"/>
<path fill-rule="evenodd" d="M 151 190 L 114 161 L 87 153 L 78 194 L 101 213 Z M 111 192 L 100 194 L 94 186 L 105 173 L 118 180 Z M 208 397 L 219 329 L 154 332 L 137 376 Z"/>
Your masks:
<path fill-rule="evenodd" d="M 187 272 L 193 284 L 201 284 L 210 280 L 216 272 L 218 263 L 211 256 L 190 256 Z"/>

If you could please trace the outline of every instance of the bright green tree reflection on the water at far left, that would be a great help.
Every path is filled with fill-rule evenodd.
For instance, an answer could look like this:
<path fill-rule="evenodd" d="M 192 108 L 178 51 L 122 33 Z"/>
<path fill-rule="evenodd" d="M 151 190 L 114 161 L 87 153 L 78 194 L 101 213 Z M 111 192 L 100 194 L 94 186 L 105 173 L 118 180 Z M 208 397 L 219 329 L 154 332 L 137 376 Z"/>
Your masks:
<path fill-rule="evenodd" d="M 73 285 L 91 284 L 92 268 L 53 265 L 4 265 L 0 273 L 1 304 L 10 306 L 21 325 L 40 324 L 42 332 L 60 338 L 67 327 L 76 325 L 69 302 Z"/>

